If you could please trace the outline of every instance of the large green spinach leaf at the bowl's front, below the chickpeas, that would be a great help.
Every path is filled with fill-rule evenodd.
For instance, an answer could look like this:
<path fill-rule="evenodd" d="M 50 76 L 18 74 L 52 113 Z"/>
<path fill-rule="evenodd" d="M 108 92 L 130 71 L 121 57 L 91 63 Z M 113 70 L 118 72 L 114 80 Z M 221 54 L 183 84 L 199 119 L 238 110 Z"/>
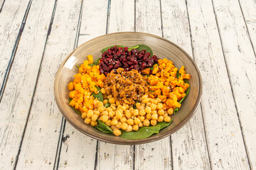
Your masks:
<path fill-rule="evenodd" d="M 161 125 L 149 126 L 149 127 L 142 127 L 139 128 L 137 131 L 126 132 L 122 130 L 122 134 L 120 137 L 127 139 L 127 140 L 142 140 L 155 133 L 159 133 Z"/>

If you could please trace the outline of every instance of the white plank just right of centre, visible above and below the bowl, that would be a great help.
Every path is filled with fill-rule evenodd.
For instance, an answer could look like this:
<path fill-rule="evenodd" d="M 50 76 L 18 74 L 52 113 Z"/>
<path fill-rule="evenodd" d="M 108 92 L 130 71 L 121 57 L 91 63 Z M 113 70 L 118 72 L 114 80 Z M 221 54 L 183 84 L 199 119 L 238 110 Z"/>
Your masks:
<path fill-rule="evenodd" d="M 162 36 L 160 1 L 136 1 L 136 31 Z M 170 137 L 135 145 L 135 169 L 171 169 Z"/>

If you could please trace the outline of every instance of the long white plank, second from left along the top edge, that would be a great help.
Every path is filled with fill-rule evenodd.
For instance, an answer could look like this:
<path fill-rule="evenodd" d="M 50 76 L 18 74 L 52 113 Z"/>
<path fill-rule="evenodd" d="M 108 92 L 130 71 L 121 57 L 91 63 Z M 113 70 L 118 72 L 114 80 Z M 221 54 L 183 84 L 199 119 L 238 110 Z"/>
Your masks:
<path fill-rule="evenodd" d="M 0 169 L 12 169 L 16 162 L 53 6 L 50 0 L 35 0 L 31 5 L 0 104 Z"/>

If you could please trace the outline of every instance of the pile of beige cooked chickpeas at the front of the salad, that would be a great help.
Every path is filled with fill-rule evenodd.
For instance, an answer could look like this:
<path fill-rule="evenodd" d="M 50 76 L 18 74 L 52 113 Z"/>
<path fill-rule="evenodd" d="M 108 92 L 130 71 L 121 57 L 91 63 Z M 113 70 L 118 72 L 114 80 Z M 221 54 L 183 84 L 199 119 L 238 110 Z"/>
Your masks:
<path fill-rule="evenodd" d="M 102 94 L 105 94 L 105 89 L 101 89 Z M 111 103 L 110 107 L 105 108 L 107 99 Z M 121 130 L 130 132 L 137 131 L 142 126 L 156 125 L 158 122 L 170 122 L 174 113 L 173 108 L 164 111 L 163 104 L 160 98 L 152 99 L 147 95 L 142 96 L 142 102 L 136 103 L 136 109 L 127 104 L 120 105 L 119 101 L 114 101 L 112 95 L 107 96 L 105 100 L 94 100 L 94 110 L 89 110 L 82 113 L 82 118 L 86 124 L 92 126 L 97 125 L 97 118 L 106 125 L 110 126 L 114 135 L 121 135 Z"/>

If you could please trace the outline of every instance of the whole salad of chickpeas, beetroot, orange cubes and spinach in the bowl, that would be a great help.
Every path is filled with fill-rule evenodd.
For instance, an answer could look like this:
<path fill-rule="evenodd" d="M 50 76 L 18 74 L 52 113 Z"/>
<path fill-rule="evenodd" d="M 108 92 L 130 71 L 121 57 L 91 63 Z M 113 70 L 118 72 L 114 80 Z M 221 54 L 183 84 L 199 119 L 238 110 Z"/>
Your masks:
<path fill-rule="evenodd" d="M 68 84 L 69 105 L 85 124 L 128 140 L 150 137 L 171 124 L 190 85 L 185 67 L 161 60 L 147 45 L 113 45 L 87 56 Z"/>

